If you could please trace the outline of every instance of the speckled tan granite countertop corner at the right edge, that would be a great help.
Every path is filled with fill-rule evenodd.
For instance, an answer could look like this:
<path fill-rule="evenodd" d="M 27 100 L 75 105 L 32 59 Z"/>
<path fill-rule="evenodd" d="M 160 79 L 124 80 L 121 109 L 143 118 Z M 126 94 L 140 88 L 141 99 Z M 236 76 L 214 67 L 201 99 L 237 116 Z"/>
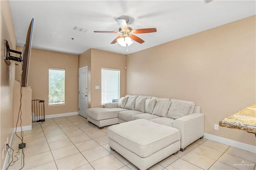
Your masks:
<path fill-rule="evenodd" d="M 222 119 L 219 125 L 222 127 L 245 130 L 254 133 L 256 136 L 256 104 Z"/>

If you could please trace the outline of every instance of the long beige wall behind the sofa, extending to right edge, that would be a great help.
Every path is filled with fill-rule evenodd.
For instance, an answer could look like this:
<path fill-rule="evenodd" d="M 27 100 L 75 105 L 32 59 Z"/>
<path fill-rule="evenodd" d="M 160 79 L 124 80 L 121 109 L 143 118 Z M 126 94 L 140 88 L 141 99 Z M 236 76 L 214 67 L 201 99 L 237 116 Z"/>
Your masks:
<path fill-rule="evenodd" d="M 254 134 L 214 124 L 256 103 L 256 17 L 128 55 L 127 94 L 194 101 L 205 132 L 256 145 Z"/>

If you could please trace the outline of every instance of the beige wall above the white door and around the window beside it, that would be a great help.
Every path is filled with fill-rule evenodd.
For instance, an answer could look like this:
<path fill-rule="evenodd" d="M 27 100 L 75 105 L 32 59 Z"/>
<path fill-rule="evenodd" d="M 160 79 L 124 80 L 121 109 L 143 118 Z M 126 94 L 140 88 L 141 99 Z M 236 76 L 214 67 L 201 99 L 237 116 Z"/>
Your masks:
<path fill-rule="evenodd" d="M 88 66 L 88 108 L 101 106 L 101 68 L 120 69 L 120 97 L 126 95 L 126 57 L 122 54 L 89 49 L 79 55 L 79 68 Z"/>

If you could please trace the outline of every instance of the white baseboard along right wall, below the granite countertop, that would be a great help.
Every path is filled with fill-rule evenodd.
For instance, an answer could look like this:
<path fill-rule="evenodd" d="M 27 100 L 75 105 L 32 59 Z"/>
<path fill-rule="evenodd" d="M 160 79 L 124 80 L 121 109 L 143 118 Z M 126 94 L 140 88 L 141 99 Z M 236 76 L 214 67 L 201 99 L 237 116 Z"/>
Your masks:
<path fill-rule="evenodd" d="M 209 140 L 213 140 L 215 142 L 219 142 L 219 143 L 222 143 L 222 144 L 226 144 L 226 145 L 229 145 L 229 146 L 233 146 L 233 147 L 236 147 L 236 148 L 240 148 L 240 149 L 243 149 L 243 150 L 247 150 L 249 152 L 256 153 L 256 146 L 254 146 L 254 145 L 238 142 L 236 140 L 223 138 L 223 137 L 216 136 L 216 135 L 209 134 L 209 133 L 204 133 L 204 138 L 209 139 Z"/>

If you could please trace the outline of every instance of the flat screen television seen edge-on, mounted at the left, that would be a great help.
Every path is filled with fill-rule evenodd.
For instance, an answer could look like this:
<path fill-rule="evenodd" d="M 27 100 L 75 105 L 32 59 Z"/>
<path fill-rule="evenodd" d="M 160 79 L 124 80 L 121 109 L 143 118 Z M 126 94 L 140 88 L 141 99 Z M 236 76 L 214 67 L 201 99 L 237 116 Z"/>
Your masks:
<path fill-rule="evenodd" d="M 22 50 L 22 87 L 28 87 L 28 69 L 30 61 L 30 52 L 32 46 L 32 36 L 33 36 L 34 18 L 32 18 L 30 25 L 28 27 L 28 33 L 26 37 L 26 44 Z"/>

